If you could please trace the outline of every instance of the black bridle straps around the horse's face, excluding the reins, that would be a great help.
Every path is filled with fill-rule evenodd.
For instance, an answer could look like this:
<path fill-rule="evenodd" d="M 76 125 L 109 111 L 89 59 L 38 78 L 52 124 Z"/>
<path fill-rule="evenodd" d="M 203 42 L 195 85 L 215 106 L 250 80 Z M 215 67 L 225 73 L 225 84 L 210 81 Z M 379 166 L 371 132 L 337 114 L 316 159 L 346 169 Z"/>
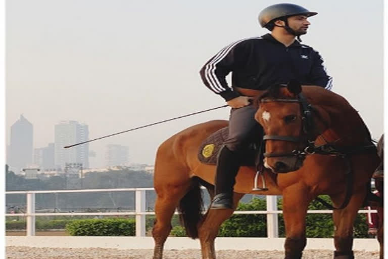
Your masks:
<path fill-rule="evenodd" d="M 306 100 L 302 93 L 297 95 L 298 99 L 262 99 L 261 102 L 285 102 L 285 103 L 299 103 L 302 114 L 302 133 L 301 137 L 294 136 L 278 136 L 278 135 L 264 135 L 263 141 L 266 140 L 280 140 L 289 142 L 305 143 L 302 149 L 295 149 L 289 153 L 264 153 L 264 157 L 284 157 L 296 156 L 304 158 L 308 154 L 315 153 L 315 139 L 314 139 L 314 121 L 312 115 L 312 106 Z"/>

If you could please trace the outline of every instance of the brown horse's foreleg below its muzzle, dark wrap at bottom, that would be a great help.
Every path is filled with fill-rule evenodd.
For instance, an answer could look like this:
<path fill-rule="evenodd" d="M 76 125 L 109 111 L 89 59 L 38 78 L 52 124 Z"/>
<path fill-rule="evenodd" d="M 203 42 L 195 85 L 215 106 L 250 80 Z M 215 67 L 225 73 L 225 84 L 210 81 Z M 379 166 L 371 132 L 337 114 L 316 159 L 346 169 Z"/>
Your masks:
<path fill-rule="evenodd" d="M 312 200 L 308 188 L 295 184 L 283 190 L 285 259 L 301 259 L 306 246 L 306 214 Z"/>

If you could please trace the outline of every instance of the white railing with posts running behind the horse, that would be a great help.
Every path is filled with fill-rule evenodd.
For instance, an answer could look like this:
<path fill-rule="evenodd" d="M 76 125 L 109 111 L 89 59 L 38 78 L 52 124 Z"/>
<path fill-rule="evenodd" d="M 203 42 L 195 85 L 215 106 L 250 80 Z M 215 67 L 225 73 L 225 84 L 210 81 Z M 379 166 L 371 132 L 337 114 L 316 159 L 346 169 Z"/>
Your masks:
<path fill-rule="evenodd" d="M 203 188 L 205 189 L 205 188 Z M 82 190 L 45 190 L 45 191 L 9 191 L 6 194 L 26 194 L 27 213 L 6 213 L 6 216 L 23 216 L 27 221 L 27 236 L 35 235 L 35 217 L 37 216 L 60 216 L 60 215 L 135 215 L 136 236 L 146 236 L 146 215 L 153 215 L 155 211 L 146 211 L 146 191 L 154 188 L 115 188 L 115 189 L 82 189 Z M 35 194 L 37 193 L 85 193 L 85 192 L 135 192 L 134 212 L 54 212 L 36 213 Z M 236 210 L 234 214 L 267 214 L 267 237 L 278 237 L 277 214 L 282 213 L 277 210 L 277 196 L 266 196 L 267 210 Z M 377 212 L 373 209 L 359 210 L 359 213 Z M 332 213 L 332 210 L 308 210 L 307 213 Z M 178 214 L 176 211 L 175 214 Z"/>

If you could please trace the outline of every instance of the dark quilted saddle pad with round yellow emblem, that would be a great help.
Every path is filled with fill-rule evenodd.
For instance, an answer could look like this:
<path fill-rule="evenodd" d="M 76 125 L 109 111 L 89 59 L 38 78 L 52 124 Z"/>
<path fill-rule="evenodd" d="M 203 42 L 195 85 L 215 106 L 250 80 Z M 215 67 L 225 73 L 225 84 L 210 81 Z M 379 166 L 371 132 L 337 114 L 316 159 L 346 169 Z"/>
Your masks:
<path fill-rule="evenodd" d="M 223 127 L 215 133 L 207 137 L 198 150 L 198 159 L 204 164 L 217 164 L 218 153 L 222 148 L 224 141 L 227 139 L 229 133 L 228 127 Z M 250 147 L 244 151 L 244 161 L 241 165 L 254 166 L 256 149 L 250 145 Z"/>

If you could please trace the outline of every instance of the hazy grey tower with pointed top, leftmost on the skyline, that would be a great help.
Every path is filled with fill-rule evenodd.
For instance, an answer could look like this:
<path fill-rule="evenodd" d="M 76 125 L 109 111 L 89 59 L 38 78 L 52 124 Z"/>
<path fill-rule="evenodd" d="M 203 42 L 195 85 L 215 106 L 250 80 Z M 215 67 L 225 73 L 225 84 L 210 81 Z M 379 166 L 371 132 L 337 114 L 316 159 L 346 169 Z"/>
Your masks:
<path fill-rule="evenodd" d="M 33 125 L 23 115 L 11 126 L 9 150 L 10 169 L 21 174 L 21 169 L 32 164 Z"/>

